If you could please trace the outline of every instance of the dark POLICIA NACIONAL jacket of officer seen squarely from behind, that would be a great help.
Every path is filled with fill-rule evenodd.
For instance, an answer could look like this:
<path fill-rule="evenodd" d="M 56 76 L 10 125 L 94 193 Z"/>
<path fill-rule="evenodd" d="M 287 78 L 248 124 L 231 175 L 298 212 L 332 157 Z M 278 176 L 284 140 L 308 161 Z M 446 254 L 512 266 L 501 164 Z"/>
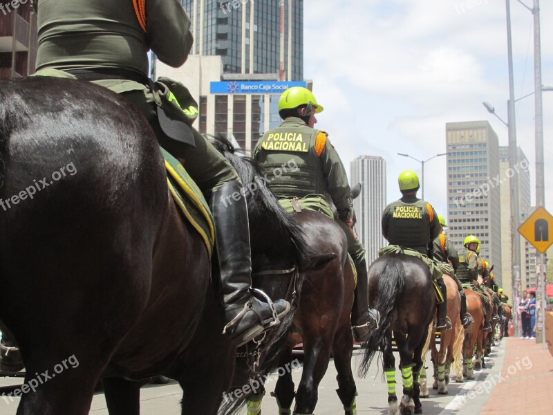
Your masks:
<path fill-rule="evenodd" d="M 382 235 L 392 245 L 412 248 L 427 255 L 427 247 L 440 234 L 438 214 L 417 196 L 403 196 L 382 213 Z"/>

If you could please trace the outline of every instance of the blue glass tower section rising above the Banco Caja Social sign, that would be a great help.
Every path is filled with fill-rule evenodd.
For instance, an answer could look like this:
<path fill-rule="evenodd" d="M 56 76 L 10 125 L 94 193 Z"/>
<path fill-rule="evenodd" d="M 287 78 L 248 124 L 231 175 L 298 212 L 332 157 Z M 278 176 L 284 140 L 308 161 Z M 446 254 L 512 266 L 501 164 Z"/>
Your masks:
<path fill-rule="evenodd" d="M 303 80 L 303 0 L 181 1 L 192 21 L 194 55 L 221 56 L 223 73 L 283 69 L 281 80 Z"/>

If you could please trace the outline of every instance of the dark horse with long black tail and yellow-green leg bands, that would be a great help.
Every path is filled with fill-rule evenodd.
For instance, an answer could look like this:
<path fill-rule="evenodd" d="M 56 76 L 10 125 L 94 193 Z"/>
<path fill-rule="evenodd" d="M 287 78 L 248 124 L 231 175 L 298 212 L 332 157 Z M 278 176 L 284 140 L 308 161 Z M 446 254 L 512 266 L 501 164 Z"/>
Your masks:
<path fill-rule="evenodd" d="M 368 299 L 380 315 L 380 326 L 363 344 L 366 349 L 359 368 L 366 376 L 375 353 L 382 350 L 384 375 L 388 382 L 389 414 L 422 414 L 418 376 L 422 349 L 435 313 L 435 297 L 428 266 L 404 254 L 379 257 L 368 268 Z M 400 352 L 403 397 L 398 407 L 395 394 L 393 340 Z"/>

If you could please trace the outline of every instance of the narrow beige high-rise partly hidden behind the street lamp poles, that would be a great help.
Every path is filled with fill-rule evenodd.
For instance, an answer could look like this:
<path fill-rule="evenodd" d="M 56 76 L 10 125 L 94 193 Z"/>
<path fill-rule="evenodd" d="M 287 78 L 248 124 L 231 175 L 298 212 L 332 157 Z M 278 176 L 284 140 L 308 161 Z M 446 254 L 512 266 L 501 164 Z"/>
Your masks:
<path fill-rule="evenodd" d="M 519 273 L 519 281 L 516 282 L 518 293 L 529 286 L 532 275 L 536 279 L 536 261 L 535 248 L 524 239 L 518 230 L 512 228 L 514 220 L 511 212 L 511 186 L 510 177 L 514 176 L 518 181 L 518 210 L 521 214 L 519 223 L 523 223 L 532 213 L 530 208 L 530 172 L 529 161 L 526 158 L 521 147 L 518 147 L 516 165 L 509 168 L 509 147 L 499 147 L 499 178 L 500 178 L 500 194 L 501 194 L 501 251 L 503 252 L 503 290 L 509 298 L 513 298 L 512 289 L 513 281 L 513 255 L 514 249 L 511 239 L 511 232 L 516 232 L 521 239 L 521 270 Z"/>

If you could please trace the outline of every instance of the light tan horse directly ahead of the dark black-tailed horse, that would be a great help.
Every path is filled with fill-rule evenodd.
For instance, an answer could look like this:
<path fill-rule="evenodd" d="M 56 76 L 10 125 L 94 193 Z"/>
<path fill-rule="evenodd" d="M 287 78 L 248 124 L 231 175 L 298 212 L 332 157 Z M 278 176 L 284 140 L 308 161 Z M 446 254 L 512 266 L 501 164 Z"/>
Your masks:
<path fill-rule="evenodd" d="M 449 383 L 449 373 L 451 371 L 451 364 L 457 362 L 456 365 L 457 376 L 461 375 L 460 360 L 462 342 L 465 338 L 465 329 L 463 329 L 460 318 L 461 309 L 461 297 L 459 290 L 453 278 L 449 275 L 444 275 L 444 282 L 447 286 L 447 317 L 451 321 L 451 329 L 442 331 L 440 333 L 440 350 L 438 351 L 435 342 L 435 336 L 430 336 L 429 346 L 431 347 L 431 357 L 434 369 L 434 382 L 433 389 L 438 389 L 438 394 L 447 394 L 447 384 Z M 425 348 L 426 349 L 426 348 Z M 426 356 L 426 350 L 423 351 L 422 356 Z M 421 386 L 420 396 L 421 398 L 427 398 L 429 396 L 428 387 L 426 385 L 426 371 L 421 370 Z"/>

